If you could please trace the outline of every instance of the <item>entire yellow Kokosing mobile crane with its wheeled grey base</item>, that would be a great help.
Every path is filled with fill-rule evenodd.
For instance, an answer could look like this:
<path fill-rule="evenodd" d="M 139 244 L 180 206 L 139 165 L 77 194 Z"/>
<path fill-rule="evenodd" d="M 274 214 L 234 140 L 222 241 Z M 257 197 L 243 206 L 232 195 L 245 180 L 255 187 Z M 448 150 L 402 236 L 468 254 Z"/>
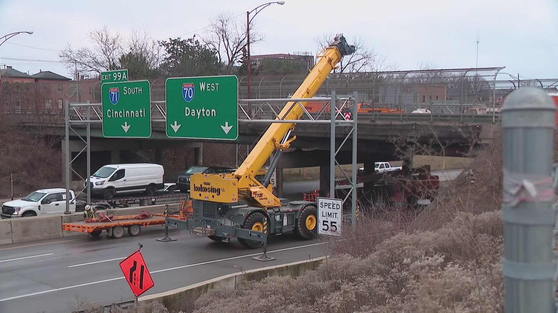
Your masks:
<path fill-rule="evenodd" d="M 355 51 L 342 34 L 324 47 L 316 65 L 292 95 L 292 99 L 314 96 L 330 72 L 345 55 Z M 301 102 L 303 106 L 306 102 Z M 298 120 L 304 114 L 296 101 L 289 101 L 278 114 L 282 120 Z M 290 135 L 296 123 L 273 123 L 234 173 L 193 174 L 190 178 L 190 197 L 193 217 L 181 221 L 167 218 L 166 224 L 189 229 L 191 234 L 207 236 L 214 241 L 238 238 L 245 247 L 256 248 L 267 234 L 294 231 L 303 239 L 313 238 L 317 229 L 316 203 L 289 201 L 277 198 L 270 184 L 282 150 L 287 149 L 296 136 Z M 270 167 L 260 181 L 263 165 L 277 151 Z M 265 234 L 265 235 L 264 235 Z"/>

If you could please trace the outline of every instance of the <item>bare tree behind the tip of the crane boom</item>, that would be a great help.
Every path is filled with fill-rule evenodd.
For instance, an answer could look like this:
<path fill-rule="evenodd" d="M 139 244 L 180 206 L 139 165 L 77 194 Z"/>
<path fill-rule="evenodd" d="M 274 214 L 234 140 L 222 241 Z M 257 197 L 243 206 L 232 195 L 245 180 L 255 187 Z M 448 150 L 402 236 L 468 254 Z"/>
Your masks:
<path fill-rule="evenodd" d="M 318 45 L 319 50 L 327 46 L 333 38 L 334 33 L 323 33 L 322 35 L 316 36 L 314 42 Z M 365 45 L 364 39 L 360 36 L 353 37 L 348 42 L 354 45 L 355 52 L 351 55 L 344 56 L 341 59 L 339 65 L 339 71 L 337 73 L 359 73 L 359 72 L 372 72 L 374 67 L 374 61 L 378 58 L 378 52 L 373 48 L 369 48 Z"/>

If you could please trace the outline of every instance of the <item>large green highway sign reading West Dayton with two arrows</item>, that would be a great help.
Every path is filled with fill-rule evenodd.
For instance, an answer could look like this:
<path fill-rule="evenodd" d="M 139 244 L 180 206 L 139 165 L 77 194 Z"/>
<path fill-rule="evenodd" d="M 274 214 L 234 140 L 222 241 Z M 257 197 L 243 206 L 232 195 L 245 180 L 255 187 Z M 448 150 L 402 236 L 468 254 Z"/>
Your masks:
<path fill-rule="evenodd" d="M 169 138 L 236 140 L 238 78 L 197 76 L 168 78 L 166 133 Z"/>

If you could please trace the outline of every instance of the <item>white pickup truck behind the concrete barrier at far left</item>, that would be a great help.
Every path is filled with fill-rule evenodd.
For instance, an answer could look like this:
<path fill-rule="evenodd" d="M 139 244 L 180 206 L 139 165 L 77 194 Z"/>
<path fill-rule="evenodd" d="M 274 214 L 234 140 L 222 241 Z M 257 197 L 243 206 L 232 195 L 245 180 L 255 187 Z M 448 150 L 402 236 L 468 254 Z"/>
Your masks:
<path fill-rule="evenodd" d="M 75 212 L 76 201 L 73 190 L 70 190 L 70 212 Z M 39 189 L 19 200 L 2 204 L 0 217 L 16 218 L 39 216 L 41 213 L 61 213 L 66 210 L 66 189 Z"/>

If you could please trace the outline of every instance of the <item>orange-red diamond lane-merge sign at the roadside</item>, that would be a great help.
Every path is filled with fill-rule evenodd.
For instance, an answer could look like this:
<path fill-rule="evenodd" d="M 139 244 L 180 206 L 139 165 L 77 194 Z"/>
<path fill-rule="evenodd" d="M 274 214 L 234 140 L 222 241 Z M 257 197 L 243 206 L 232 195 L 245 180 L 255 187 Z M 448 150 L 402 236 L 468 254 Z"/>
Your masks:
<path fill-rule="evenodd" d="M 151 278 L 151 274 L 147 269 L 145 260 L 143 260 L 141 245 L 139 250 L 120 262 L 120 268 L 122 273 L 124 273 L 128 285 L 132 288 L 136 300 L 143 292 L 155 286 L 153 278 Z"/>

